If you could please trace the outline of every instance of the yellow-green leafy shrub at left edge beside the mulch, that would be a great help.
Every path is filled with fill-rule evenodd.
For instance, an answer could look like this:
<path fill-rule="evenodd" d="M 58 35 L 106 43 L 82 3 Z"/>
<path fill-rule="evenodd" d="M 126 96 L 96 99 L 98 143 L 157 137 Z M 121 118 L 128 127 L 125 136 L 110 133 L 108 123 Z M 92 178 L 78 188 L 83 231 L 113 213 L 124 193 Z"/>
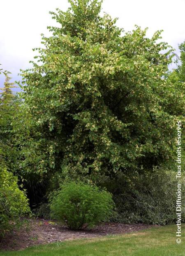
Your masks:
<path fill-rule="evenodd" d="M 0 237 L 29 212 L 28 199 L 25 191 L 18 188 L 17 178 L 0 166 Z"/>

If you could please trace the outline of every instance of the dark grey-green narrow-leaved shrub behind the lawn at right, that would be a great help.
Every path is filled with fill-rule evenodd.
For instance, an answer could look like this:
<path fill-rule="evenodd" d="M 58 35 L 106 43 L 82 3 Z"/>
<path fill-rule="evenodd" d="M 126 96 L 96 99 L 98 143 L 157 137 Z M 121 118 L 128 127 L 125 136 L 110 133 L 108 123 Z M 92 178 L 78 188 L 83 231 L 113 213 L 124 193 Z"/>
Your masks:
<path fill-rule="evenodd" d="M 182 180 L 182 191 L 184 181 Z M 113 193 L 118 215 L 113 221 L 166 225 L 176 221 L 176 173 L 166 169 L 134 173 L 128 179 L 123 173 L 104 178 L 103 186 Z M 183 196 L 183 193 L 182 193 Z M 182 204 L 184 199 L 182 198 Z M 185 218 L 184 205 L 182 218 Z"/>

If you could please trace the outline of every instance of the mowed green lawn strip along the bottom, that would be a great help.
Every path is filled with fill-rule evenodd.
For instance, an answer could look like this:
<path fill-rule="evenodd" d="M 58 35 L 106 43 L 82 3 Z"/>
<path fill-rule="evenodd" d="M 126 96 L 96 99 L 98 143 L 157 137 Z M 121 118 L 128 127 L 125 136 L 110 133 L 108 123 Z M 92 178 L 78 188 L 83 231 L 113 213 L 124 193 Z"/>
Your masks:
<path fill-rule="evenodd" d="M 176 225 L 169 225 L 126 235 L 52 243 L 24 251 L 1 251 L 0 256 L 185 256 L 185 224 L 181 231 L 181 244 L 176 243 Z"/>

